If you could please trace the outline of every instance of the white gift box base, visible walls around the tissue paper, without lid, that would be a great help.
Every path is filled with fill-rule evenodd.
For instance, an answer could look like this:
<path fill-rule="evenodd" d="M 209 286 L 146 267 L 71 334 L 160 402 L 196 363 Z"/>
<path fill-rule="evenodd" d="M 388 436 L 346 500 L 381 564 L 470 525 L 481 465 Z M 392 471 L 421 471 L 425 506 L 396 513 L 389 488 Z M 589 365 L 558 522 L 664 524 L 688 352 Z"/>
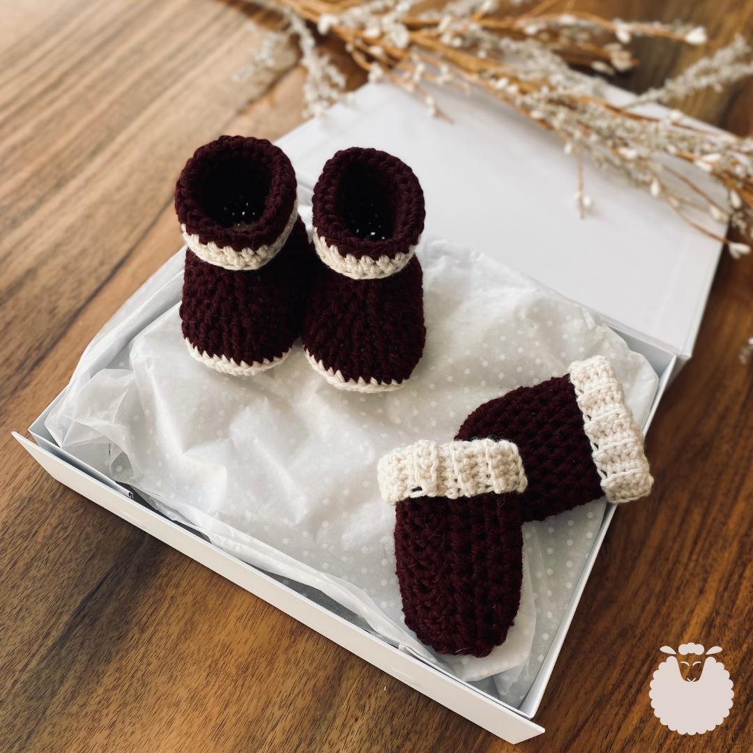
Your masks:
<path fill-rule="evenodd" d="M 642 353 L 657 372 L 657 387 L 651 412 L 644 425 L 648 429 L 660 398 L 675 369 L 677 358 L 671 352 L 632 334 L 613 328 L 626 340 L 633 351 Z M 57 398 L 56 398 L 57 400 Z M 281 609 L 286 614 L 316 630 L 358 657 L 377 666 L 392 677 L 404 682 L 420 693 L 447 706 L 480 727 L 489 730 L 507 742 L 521 742 L 544 732 L 544 728 L 532 721 L 546 690 L 562 643 L 578 607 L 578 602 L 599 553 L 602 541 L 615 506 L 608 505 L 602 525 L 594 541 L 593 550 L 584 567 L 581 578 L 573 589 L 572 599 L 559 630 L 553 637 L 550 649 L 529 693 L 518 709 L 509 706 L 498 698 L 486 694 L 478 687 L 461 681 L 410 654 L 405 647 L 395 647 L 373 635 L 357 623 L 347 620 L 325 606 L 326 597 L 321 602 L 294 590 L 278 579 L 256 569 L 240 559 L 224 552 L 206 541 L 190 529 L 173 523 L 151 508 L 136 500 L 129 489 L 114 482 L 103 474 L 75 459 L 61 450 L 44 427 L 44 420 L 56 401 L 29 427 L 29 433 L 36 444 L 14 432 L 14 437 L 24 449 L 53 478 L 69 486 L 75 492 L 102 506 L 118 517 L 127 520 L 169 546 L 201 562 L 206 567 L 228 578 L 260 599 Z"/>

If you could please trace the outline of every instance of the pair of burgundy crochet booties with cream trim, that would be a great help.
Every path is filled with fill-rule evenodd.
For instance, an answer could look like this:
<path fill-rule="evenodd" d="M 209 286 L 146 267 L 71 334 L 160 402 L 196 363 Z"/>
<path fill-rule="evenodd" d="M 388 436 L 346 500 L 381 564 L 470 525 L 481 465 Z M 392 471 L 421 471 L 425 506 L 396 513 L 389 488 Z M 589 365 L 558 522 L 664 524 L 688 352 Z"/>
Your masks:
<path fill-rule="evenodd" d="M 398 389 L 426 337 L 419 181 L 397 157 L 346 149 L 326 163 L 312 203 L 313 244 L 293 166 L 266 140 L 221 136 L 188 160 L 175 211 L 188 245 L 180 316 L 191 355 L 252 376 L 300 337 L 334 386 Z"/>

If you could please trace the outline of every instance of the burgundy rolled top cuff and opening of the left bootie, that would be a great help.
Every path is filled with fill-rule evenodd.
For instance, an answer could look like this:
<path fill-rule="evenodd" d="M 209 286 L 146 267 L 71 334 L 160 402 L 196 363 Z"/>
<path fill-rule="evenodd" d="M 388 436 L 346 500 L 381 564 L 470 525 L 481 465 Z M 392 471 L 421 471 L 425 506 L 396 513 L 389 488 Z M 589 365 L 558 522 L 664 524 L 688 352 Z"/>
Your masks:
<path fill-rule="evenodd" d="M 188 235 L 205 245 L 256 251 L 285 230 L 296 187 L 282 149 L 266 139 L 220 136 L 187 161 L 175 186 L 175 211 Z"/>

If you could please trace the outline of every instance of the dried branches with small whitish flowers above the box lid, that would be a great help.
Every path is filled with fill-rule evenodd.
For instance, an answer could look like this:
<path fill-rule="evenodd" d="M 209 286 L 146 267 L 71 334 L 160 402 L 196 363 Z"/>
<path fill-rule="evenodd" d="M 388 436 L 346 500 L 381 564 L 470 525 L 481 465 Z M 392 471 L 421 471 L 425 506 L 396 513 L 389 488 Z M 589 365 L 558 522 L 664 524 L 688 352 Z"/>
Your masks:
<path fill-rule="evenodd" d="M 581 216 L 593 200 L 584 194 L 584 156 L 647 189 L 687 223 L 719 242 L 699 224 L 697 212 L 730 224 L 743 242 L 727 244 L 735 258 L 753 245 L 753 139 L 697 127 L 678 110 L 658 117 L 645 106 L 666 104 L 753 74 L 750 47 L 742 38 L 704 57 L 663 87 L 627 107 L 608 102 L 603 80 L 572 66 L 605 75 L 637 61 L 625 47 L 633 38 L 662 37 L 704 44 L 703 28 L 683 23 L 605 20 L 580 11 L 555 13 L 556 0 L 528 8 L 526 0 L 453 0 L 427 8 L 425 0 L 261 0 L 282 14 L 282 35 L 297 36 L 308 72 L 306 114 L 322 114 L 347 95 L 345 78 L 317 49 L 312 28 L 345 42 L 369 81 L 386 78 L 420 96 L 441 114 L 425 84 L 483 90 L 556 133 L 575 154 Z M 506 6 L 506 7 L 505 7 Z M 525 6 L 525 8 L 523 8 Z M 278 37 L 279 41 L 279 37 Z M 639 108 L 639 109 L 636 109 Z M 711 176 L 726 189 L 714 200 L 703 181 L 688 178 L 681 164 Z M 692 174 L 692 170 L 691 170 Z"/>

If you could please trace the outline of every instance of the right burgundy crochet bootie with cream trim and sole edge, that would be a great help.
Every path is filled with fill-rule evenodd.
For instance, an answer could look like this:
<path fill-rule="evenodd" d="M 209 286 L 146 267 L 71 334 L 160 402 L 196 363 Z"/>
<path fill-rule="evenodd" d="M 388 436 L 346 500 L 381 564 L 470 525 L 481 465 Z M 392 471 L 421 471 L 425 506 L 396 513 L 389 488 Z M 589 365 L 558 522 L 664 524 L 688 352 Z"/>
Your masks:
<path fill-rule="evenodd" d="M 339 151 L 313 195 L 314 264 L 301 337 L 312 367 L 356 392 L 398 389 L 423 353 L 421 186 L 383 151 Z"/>

